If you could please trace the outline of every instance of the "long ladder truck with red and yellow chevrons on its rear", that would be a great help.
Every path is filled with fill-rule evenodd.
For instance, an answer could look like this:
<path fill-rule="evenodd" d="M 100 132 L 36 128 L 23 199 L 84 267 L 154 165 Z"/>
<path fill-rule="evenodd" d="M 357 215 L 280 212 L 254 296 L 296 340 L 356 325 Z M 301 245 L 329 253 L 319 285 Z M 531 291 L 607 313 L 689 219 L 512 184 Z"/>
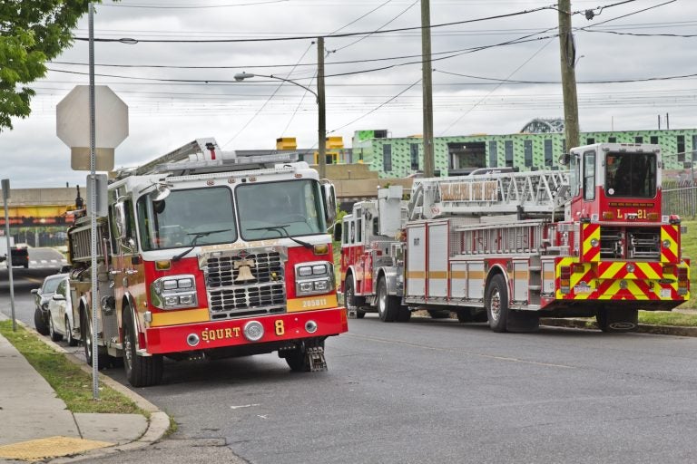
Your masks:
<path fill-rule="evenodd" d="M 687 301 L 681 220 L 662 212 L 657 145 L 571 150 L 564 170 L 414 179 L 378 190 L 335 227 L 350 316 L 407 321 L 456 312 L 496 332 L 540 316 L 595 316 L 635 330 L 637 310 Z"/>

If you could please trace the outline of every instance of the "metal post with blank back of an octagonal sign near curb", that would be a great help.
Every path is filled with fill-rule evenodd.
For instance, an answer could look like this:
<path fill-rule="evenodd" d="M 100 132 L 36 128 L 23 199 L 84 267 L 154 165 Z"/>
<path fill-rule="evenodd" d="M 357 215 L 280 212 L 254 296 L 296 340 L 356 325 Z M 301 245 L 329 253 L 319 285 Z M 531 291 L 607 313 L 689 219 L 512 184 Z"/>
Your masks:
<path fill-rule="evenodd" d="M 77 85 L 56 106 L 56 134 L 71 148 L 74 170 L 89 170 L 88 209 L 92 235 L 92 391 L 99 399 L 99 280 L 97 276 L 97 170 L 113 169 L 113 151 L 128 136 L 128 107 L 107 86 L 94 86 L 94 5 L 88 15 L 90 85 Z M 97 126 L 96 121 L 99 121 Z M 107 256 L 103 256 L 106 259 Z"/>

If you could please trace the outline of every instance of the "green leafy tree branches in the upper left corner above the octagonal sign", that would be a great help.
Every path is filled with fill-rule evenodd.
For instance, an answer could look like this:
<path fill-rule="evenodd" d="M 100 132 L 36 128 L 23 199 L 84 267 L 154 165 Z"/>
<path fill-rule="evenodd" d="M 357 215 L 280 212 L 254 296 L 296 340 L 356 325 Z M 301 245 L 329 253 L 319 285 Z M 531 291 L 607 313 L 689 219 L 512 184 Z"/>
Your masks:
<path fill-rule="evenodd" d="M 26 118 L 45 62 L 73 43 L 72 30 L 87 13 L 86 0 L 0 0 L 0 132 L 12 117 Z"/>

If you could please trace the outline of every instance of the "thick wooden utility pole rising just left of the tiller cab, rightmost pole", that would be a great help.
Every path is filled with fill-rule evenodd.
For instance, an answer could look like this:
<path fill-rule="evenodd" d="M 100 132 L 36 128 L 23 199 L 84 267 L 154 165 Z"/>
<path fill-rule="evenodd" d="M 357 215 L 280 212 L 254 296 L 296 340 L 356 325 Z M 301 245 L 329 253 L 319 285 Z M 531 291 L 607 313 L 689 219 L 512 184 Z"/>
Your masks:
<path fill-rule="evenodd" d="M 578 97 L 576 96 L 576 47 L 571 31 L 571 0 L 559 0 L 559 57 L 564 93 L 564 136 L 566 150 L 578 147 Z"/>

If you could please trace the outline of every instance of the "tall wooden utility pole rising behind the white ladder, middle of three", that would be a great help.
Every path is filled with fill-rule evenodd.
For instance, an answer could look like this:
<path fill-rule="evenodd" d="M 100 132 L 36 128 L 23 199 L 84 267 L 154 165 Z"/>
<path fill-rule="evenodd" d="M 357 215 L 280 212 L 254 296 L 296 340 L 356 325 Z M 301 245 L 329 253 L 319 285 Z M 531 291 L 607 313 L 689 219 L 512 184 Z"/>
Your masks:
<path fill-rule="evenodd" d="M 424 177 L 434 176 L 433 154 L 433 82 L 431 76 L 431 10 L 430 0 L 421 0 L 421 72 L 424 100 Z"/>

